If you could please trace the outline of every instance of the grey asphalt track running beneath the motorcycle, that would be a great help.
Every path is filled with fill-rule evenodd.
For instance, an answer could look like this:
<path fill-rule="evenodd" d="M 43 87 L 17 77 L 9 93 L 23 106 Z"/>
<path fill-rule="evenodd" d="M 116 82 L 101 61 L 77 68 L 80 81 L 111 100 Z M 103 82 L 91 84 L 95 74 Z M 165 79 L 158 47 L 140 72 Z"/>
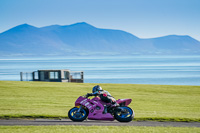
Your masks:
<path fill-rule="evenodd" d="M 156 121 L 132 121 L 128 123 L 122 123 L 118 121 L 92 121 L 86 120 L 83 122 L 73 122 L 69 119 L 35 119 L 35 120 L 26 120 L 26 119 L 1 119 L 1 126 L 14 126 L 14 125 L 23 125 L 23 126 L 47 126 L 47 125 L 81 125 L 81 126 L 164 126 L 164 127 L 200 127 L 199 122 L 156 122 Z"/>

